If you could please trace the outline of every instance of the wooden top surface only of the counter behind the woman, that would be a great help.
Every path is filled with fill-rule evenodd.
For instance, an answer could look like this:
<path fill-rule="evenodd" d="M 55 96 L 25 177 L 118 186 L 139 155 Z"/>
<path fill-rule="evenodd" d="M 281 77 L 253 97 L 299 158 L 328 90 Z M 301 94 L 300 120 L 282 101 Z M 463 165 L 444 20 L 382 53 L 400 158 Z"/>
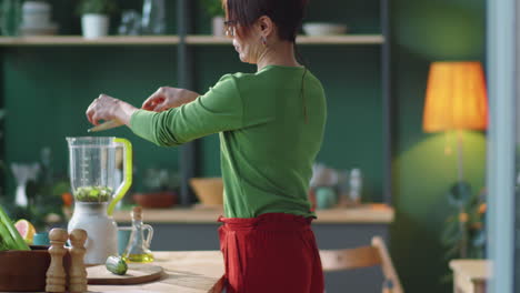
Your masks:
<path fill-rule="evenodd" d="M 217 224 L 221 208 L 146 209 L 144 221 L 149 223 Z M 386 204 L 363 204 L 317 211 L 316 224 L 388 224 L 393 221 L 393 209 Z M 130 222 L 130 211 L 114 211 L 117 222 Z"/>

